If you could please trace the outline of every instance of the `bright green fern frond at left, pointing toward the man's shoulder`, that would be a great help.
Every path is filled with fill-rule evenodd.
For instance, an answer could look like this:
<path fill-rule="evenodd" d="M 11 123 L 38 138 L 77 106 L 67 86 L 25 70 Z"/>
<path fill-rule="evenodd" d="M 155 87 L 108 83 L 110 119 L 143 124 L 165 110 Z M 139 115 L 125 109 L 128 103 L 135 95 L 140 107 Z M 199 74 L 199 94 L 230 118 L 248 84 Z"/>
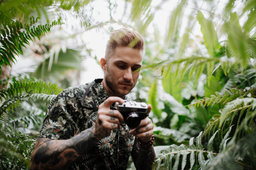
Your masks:
<path fill-rule="evenodd" d="M 31 93 L 30 91 L 32 91 L 33 93 L 44 93 L 44 94 L 59 94 L 62 89 L 58 88 L 58 85 L 56 84 L 51 84 L 51 82 L 49 82 L 49 84 L 47 84 L 46 82 L 43 82 L 42 80 L 40 81 L 28 81 L 25 82 L 25 80 L 23 79 L 23 82 L 21 82 L 20 80 L 17 82 L 13 82 L 13 83 L 9 83 L 10 88 L 5 88 L 3 90 L 0 90 L 0 96 L 3 97 L 5 100 L 8 100 L 11 97 L 15 97 L 16 95 L 22 95 L 23 91 L 25 91 L 26 93 Z M 0 99 L 1 102 L 3 101 L 3 99 Z"/>

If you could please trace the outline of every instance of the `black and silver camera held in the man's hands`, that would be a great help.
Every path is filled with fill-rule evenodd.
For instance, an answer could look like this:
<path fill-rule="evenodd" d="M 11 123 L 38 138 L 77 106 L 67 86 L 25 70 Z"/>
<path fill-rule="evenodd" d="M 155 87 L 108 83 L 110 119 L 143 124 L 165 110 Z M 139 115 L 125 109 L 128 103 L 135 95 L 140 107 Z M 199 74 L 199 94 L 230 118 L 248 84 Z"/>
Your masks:
<path fill-rule="evenodd" d="M 122 114 L 125 123 L 130 128 L 139 126 L 140 121 L 148 116 L 148 105 L 144 102 L 125 100 L 123 104 L 116 102 L 115 108 Z"/>

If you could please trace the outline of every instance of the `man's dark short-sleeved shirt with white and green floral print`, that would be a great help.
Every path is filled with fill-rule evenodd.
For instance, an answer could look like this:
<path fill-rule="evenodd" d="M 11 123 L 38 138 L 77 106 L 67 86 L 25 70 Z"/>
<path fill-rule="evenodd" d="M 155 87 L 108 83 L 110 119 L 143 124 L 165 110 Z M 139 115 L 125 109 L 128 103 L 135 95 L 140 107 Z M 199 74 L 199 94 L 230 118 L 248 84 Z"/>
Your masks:
<path fill-rule="evenodd" d="M 81 106 L 88 85 L 89 83 L 67 88 L 51 102 L 38 137 L 54 140 L 70 139 L 95 124 L 97 111 L 90 113 L 91 110 Z M 108 94 L 101 83 L 93 82 L 84 105 L 95 108 L 107 98 Z M 128 132 L 128 126 L 121 124 L 118 129 L 111 131 L 110 136 L 100 140 L 68 169 L 126 170 L 134 145 L 134 136 Z"/>

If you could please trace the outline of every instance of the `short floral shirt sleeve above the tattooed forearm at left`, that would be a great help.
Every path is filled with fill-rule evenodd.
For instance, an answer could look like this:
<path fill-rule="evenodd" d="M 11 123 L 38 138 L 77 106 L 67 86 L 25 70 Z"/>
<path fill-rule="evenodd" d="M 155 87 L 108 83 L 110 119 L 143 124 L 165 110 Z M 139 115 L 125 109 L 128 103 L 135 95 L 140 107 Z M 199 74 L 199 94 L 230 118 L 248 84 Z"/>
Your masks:
<path fill-rule="evenodd" d="M 72 89 L 65 89 L 49 105 L 38 137 L 70 139 L 80 133 L 79 109 Z"/>

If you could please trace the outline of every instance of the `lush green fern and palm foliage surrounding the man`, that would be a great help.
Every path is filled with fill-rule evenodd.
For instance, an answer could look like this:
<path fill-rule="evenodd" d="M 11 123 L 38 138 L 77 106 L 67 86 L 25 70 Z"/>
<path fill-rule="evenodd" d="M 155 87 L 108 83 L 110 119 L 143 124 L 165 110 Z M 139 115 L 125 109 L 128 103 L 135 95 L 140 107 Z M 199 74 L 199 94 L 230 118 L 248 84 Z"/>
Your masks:
<path fill-rule="evenodd" d="M 99 61 L 79 35 L 121 26 L 147 46 L 129 96 L 153 106 L 154 146 L 166 148 L 153 168 L 255 169 L 255 0 L 178 0 L 164 36 L 154 17 L 168 0 L 125 0 L 120 20 L 119 3 L 109 0 L 106 22 L 92 17 L 91 3 L 1 2 L 0 167 L 28 168 L 47 104 L 79 85 L 84 56 Z"/>

